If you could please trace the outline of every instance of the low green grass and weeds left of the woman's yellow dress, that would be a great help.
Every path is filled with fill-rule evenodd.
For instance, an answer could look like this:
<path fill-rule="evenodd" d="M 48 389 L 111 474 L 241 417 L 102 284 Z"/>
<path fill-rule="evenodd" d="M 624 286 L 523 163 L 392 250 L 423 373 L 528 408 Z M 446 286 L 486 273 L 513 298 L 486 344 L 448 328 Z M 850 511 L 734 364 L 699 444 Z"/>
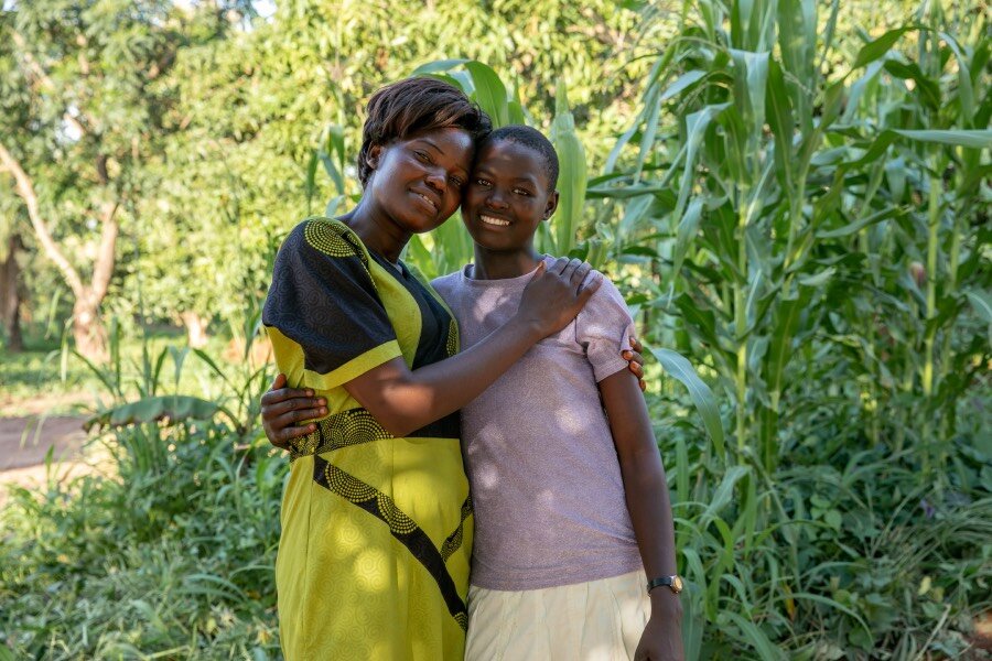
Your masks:
<path fill-rule="evenodd" d="M 168 389 L 173 375 L 154 373 L 122 377 Z M 226 395 L 168 424 L 144 410 L 186 398 L 116 407 L 103 415 L 134 415 L 93 440 L 108 455 L 99 473 L 66 484 L 53 466 L 46 490 L 13 490 L 0 514 L 0 638 L 17 658 L 278 657 L 287 463 L 254 426 L 268 375 L 223 375 L 244 398 L 234 420 Z"/>

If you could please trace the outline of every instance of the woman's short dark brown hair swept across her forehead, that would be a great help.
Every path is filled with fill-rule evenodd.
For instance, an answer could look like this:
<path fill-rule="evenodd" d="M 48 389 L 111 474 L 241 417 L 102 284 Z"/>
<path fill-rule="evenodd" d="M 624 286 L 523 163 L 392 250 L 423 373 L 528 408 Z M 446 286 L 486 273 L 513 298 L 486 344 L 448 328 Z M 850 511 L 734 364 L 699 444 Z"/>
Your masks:
<path fill-rule="evenodd" d="M 473 143 L 493 129 L 489 116 L 468 100 L 457 87 L 436 78 L 407 78 L 377 90 L 368 100 L 368 117 L 362 128 L 358 181 L 368 183 L 368 152 L 408 136 L 438 129 L 463 129 Z"/>

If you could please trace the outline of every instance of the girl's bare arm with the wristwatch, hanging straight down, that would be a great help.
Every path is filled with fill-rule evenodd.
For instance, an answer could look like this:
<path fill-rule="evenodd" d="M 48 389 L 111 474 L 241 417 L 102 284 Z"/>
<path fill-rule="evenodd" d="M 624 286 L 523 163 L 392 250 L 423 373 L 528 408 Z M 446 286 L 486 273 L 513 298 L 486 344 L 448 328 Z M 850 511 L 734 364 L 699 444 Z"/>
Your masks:
<path fill-rule="evenodd" d="M 603 405 L 619 459 L 627 510 L 648 579 L 677 574 L 675 525 L 661 455 L 637 377 L 621 370 L 600 381 Z M 650 593 L 651 617 L 635 659 L 679 660 L 682 606 L 665 586 Z"/>

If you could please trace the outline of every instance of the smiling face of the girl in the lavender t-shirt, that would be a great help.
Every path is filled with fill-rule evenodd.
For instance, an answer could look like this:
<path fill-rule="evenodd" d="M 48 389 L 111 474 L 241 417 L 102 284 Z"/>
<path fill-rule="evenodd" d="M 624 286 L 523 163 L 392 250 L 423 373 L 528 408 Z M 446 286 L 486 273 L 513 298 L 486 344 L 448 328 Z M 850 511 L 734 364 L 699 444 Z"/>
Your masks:
<path fill-rule="evenodd" d="M 558 206 L 540 153 L 511 140 L 489 142 L 465 187 L 462 219 L 472 239 L 488 250 L 529 249 L 533 232 Z"/>

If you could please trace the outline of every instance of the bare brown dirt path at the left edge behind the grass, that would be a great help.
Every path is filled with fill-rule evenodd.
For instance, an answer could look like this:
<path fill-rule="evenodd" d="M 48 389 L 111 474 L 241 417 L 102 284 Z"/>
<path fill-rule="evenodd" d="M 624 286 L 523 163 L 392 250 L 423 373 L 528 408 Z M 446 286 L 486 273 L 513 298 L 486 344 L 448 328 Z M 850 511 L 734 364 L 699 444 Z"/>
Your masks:
<path fill-rule="evenodd" d="M 84 420 L 75 415 L 0 418 L 0 506 L 10 485 L 30 488 L 45 483 L 45 455 L 53 446 L 53 462 L 62 463 L 60 477 L 86 468 L 82 463 Z"/>

